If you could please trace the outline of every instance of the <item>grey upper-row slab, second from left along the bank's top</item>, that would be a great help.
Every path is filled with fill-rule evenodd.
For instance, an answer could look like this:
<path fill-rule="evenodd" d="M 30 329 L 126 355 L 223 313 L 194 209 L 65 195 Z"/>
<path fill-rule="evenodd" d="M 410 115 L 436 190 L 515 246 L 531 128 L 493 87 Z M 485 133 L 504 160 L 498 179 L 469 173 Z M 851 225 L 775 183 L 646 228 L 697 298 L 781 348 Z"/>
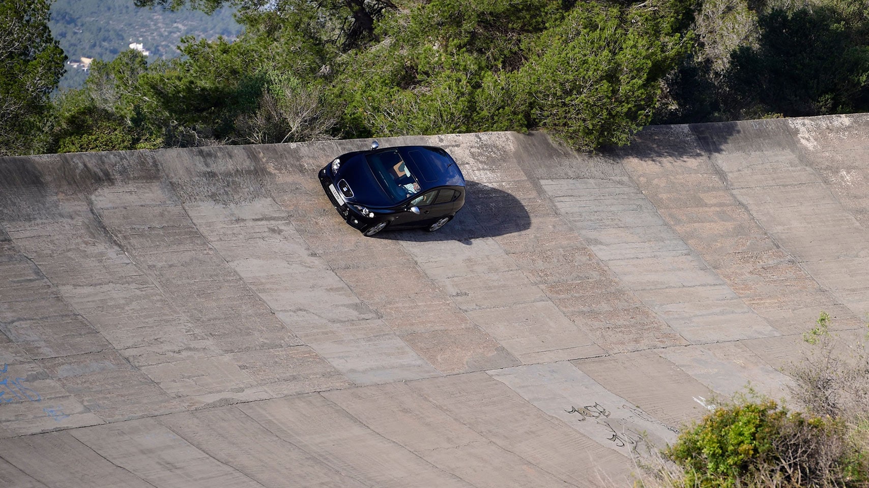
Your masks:
<path fill-rule="evenodd" d="M 300 345 L 166 192 L 163 185 L 148 188 L 143 203 L 129 207 L 103 195 L 96 212 L 172 304 L 207 329 L 222 351 Z"/>

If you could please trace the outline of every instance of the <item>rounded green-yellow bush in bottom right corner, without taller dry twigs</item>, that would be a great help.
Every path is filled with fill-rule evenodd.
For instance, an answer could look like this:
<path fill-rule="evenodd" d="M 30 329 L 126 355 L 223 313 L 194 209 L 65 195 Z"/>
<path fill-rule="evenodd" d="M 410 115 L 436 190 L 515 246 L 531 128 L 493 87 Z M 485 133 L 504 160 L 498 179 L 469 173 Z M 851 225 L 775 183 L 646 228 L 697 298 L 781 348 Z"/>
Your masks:
<path fill-rule="evenodd" d="M 718 406 L 680 434 L 667 456 L 700 488 L 866 486 L 865 454 L 831 418 L 788 412 L 773 400 Z"/>

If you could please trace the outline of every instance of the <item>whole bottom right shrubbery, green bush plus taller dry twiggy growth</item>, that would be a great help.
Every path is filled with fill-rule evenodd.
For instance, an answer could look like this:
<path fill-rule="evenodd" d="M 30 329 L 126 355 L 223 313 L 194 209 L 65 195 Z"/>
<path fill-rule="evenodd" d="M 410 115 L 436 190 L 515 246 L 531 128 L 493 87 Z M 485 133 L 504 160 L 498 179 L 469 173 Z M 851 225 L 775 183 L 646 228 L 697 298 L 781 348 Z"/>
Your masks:
<path fill-rule="evenodd" d="M 715 410 L 683 429 L 660 456 L 638 459 L 646 488 L 869 488 L 869 358 L 864 340 L 840 340 L 821 312 L 803 340 L 811 351 L 791 365 L 793 398 L 716 399 Z"/>

